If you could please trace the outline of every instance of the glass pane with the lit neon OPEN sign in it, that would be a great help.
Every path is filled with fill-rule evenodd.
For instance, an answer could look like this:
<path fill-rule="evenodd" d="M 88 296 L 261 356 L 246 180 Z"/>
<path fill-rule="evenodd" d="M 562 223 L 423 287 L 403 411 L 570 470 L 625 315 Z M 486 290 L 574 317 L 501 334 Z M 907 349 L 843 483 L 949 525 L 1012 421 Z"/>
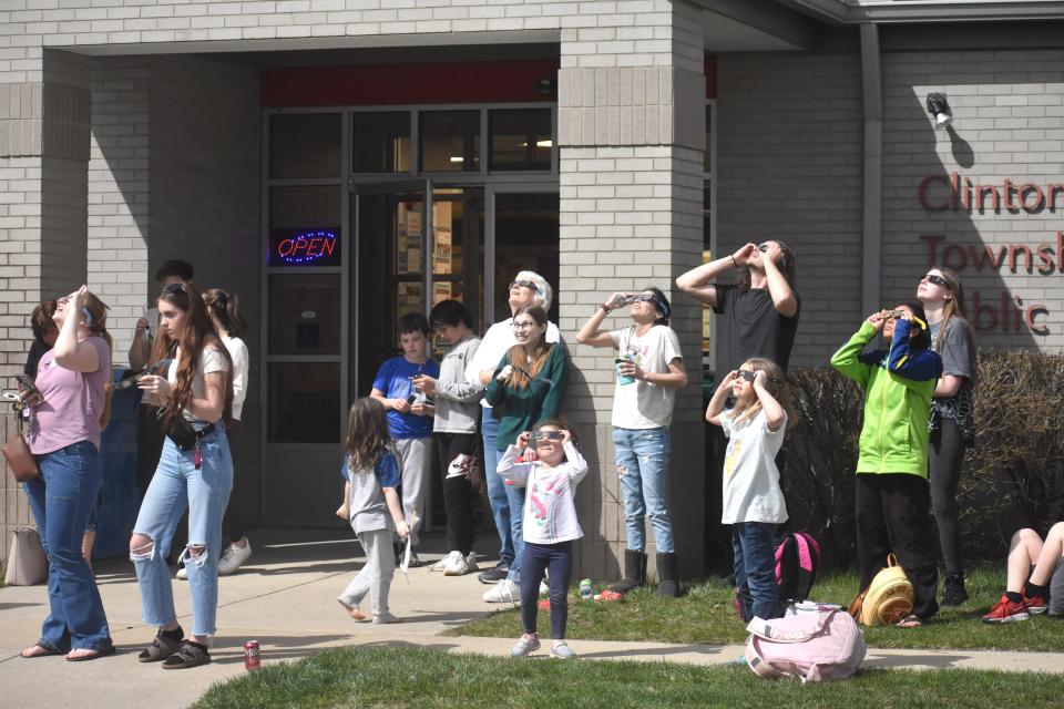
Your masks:
<path fill-rule="evenodd" d="M 269 191 L 270 266 L 339 266 L 342 240 L 337 187 Z"/>

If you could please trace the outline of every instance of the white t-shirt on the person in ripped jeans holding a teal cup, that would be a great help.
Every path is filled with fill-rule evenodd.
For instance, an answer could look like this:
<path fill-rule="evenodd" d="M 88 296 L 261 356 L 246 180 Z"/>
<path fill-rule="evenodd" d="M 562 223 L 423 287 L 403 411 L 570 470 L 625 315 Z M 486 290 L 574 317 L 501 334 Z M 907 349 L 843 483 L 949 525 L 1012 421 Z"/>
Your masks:
<path fill-rule="evenodd" d="M 613 346 L 622 357 L 632 353 L 635 363 L 645 372 L 666 373 L 668 363 L 682 360 L 679 338 L 665 325 L 655 325 L 643 337 L 635 335 L 635 326 L 610 332 Z M 636 380 L 617 383 L 613 395 L 612 423 L 618 429 L 661 429 L 673 422 L 675 387 L 661 387 Z"/>

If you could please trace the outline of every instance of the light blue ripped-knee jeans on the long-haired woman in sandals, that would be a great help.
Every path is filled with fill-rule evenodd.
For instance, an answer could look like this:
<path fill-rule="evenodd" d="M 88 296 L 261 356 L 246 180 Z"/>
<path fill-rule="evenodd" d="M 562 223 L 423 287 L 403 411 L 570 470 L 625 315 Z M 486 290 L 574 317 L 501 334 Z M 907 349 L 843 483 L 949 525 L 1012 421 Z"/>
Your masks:
<path fill-rule="evenodd" d="M 150 537 L 147 548 L 131 549 L 141 587 L 144 623 L 163 626 L 177 619 L 174 589 L 166 557 L 174 531 L 188 508 L 188 546 L 181 558 L 188 573 L 192 594 L 192 634 L 214 635 L 218 605 L 218 557 L 222 555 L 222 516 L 233 491 L 233 459 L 225 425 L 200 441 L 202 463 L 195 466 L 195 451 L 182 451 L 166 436 L 158 467 L 147 486 L 134 534 Z M 192 557 L 190 548 L 200 547 Z"/>

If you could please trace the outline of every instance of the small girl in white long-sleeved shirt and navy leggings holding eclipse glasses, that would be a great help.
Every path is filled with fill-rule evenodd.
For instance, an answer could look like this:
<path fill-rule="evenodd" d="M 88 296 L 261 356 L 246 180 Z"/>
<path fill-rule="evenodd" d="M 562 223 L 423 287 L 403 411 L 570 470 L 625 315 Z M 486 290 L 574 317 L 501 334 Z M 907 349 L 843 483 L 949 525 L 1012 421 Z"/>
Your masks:
<path fill-rule="evenodd" d="M 535 446 L 535 454 L 528 452 Z M 519 456 L 524 455 L 524 459 Z M 531 459 L 531 460 L 529 460 Z M 523 486 L 524 552 L 521 562 L 521 623 L 524 635 L 510 651 L 524 657 L 540 648 L 535 631 L 536 598 L 543 572 L 550 569 L 551 655 L 569 658 L 565 644 L 569 582 L 573 574 L 573 541 L 584 535 L 573 502 L 576 484 L 587 474 L 587 462 L 573 444 L 573 435 L 556 420 L 546 419 L 518 436 L 499 461 L 498 473 L 508 485 Z"/>

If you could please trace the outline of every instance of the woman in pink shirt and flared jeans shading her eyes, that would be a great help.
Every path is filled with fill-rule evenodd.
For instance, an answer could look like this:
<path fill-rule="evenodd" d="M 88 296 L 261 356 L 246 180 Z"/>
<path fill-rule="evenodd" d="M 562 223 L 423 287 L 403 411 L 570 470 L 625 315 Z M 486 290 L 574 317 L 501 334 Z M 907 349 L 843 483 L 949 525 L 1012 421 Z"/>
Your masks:
<path fill-rule="evenodd" d="M 32 409 L 27 435 L 41 476 L 25 483 L 50 562 L 50 613 L 41 639 L 22 657 L 64 654 L 81 661 L 114 653 L 100 592 L 81 554 L 103 473 L 100 432 L 112 342 L 108 307 L 85 286 L 58 300 L 53 319 L 59 337 L 41 358 L 35 382 L 44 401 Z"/>

